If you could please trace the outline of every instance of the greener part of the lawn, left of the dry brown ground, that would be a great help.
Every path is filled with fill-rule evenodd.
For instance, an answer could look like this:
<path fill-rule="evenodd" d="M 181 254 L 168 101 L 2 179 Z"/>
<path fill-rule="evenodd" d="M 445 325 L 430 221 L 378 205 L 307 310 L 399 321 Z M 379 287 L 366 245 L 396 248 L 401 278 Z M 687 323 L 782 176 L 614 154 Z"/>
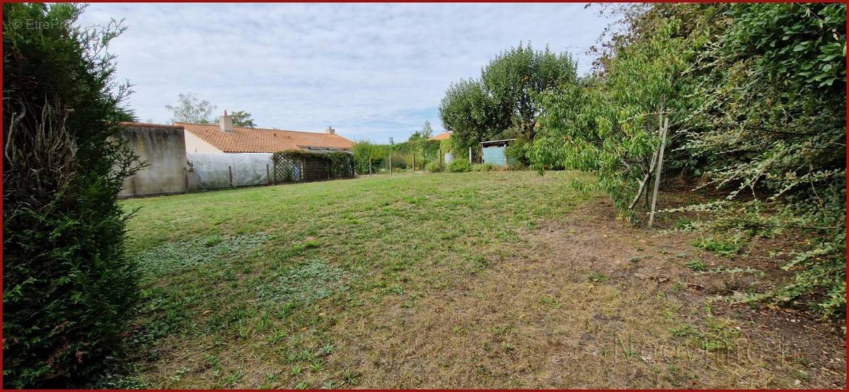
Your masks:
<path fill-rule="evenodd" d="M 574 178 L 588 179 L 438 173 L 126 200 L 138 209 L 128 253 L 142 280 L 127 379 L 154 388 L 354 385 L 355 369 L 329 367 L 336 322 L 386 300 L 427 300 L 512 255 L 520 232 L 595 197 L 569 187 Z M 554 298 L 540 303 L 559 308 Z M 193 350 L 175 351 L 175 342 Z M 248 360 L 275 372 L 259 377 Z"/>

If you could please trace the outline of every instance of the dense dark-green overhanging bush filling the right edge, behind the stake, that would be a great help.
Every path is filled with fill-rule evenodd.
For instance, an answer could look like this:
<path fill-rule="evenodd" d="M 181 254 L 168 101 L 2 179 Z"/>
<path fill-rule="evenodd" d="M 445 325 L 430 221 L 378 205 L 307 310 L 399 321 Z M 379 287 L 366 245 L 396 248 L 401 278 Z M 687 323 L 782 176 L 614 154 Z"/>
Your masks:
<path fill-rule="evenodd" d="M 737 231 L 811 238 L 783 266 L 794 281 L 762 295 L 846 309 L 846 4 L 734 4 L 701 50 L 683 148 L 728 190 L 719 211 Z M 763 198 L 763 196 L 766 198 Z M 763 198 L 763 199 L 762 199 Z M 763 214 L 772 204 L 777 214 Z M 740 213 L 741 210 L 751 213 Z M 733 227 L 731 227 L 733 225 Z"/>

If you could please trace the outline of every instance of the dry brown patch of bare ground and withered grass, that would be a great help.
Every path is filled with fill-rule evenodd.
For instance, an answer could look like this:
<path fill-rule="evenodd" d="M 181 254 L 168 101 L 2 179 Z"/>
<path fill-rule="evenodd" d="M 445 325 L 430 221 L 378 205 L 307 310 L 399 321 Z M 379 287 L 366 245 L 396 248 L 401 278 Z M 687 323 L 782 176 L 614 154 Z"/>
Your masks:
<path fill-rule="evenodd" d="M 691 233 L 627 227 L 609 203 L 521 237 L 412 304 L 343 317 L 331 366 L 363 388 L 845 387 L 834 324 L 717 299 L 774 284 L 777 263 L 706 272 L 747 266 Z"/>

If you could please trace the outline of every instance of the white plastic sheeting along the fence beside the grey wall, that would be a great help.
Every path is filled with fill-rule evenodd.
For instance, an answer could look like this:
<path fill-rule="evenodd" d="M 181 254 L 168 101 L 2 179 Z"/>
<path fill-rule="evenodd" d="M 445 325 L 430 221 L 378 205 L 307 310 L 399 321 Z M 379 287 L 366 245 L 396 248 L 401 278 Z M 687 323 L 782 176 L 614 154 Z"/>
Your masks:
<path fill-rule="evenodd" d="M 194 183 L 198 189 L 245 187 L 266 185 L 269 174 L 274 175 L 272 154 L 196 154 L 186 153 L 188 167 L 194 171 Z M 301 171 L 295 168 L 295 181 L 300 181 Z M 230 176 L 233 182 L 230 182 Z M 273 179 L 273 178 L 272 178 Z"/>

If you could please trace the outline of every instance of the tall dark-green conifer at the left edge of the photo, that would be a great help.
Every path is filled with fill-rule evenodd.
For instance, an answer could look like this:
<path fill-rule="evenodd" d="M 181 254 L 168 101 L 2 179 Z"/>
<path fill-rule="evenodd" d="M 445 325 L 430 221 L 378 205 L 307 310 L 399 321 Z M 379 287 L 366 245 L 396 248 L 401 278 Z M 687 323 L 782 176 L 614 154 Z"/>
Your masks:
<path fill-rule="evenodd" d="M 3 4 L 3 386 L 83 387 L 120 348 L 138 299 L 117 202 L 138 168 L 106 46 L 84 6 Z M 43 28 L 16 28 L 37 23 Z"/>

